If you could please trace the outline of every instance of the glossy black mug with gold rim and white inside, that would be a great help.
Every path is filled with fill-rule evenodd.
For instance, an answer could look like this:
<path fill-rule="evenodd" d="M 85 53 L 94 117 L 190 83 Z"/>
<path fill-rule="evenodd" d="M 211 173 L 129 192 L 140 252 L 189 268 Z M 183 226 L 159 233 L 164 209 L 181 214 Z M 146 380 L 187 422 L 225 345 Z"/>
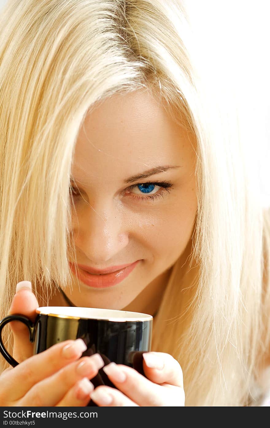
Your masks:
<path fill-rule="evenodd" d="M 64 340 L 82 339 L 87 346 L 82 357 L 98 353 L 105 366 L 114 361 L 133 367 L 144 375 L 142 354 L 151 350 L 151 315 L 69 306 L 44 306 L 37 308 L 36 312 L 34 323 L 21 314 L 8 315 L 0 321 L 0 352 L 11 366 L 17 366 L 18 362 L 7 352 L 1 333 L 10 321 L 21 321 L 28 327 L 29 340 L 34 343 L 34 354 Z M 94 387 L 108 385 L 116 388 L 103 369 L 91 382 Z M 91 400 L 88 406 L 96 404 Z"/>

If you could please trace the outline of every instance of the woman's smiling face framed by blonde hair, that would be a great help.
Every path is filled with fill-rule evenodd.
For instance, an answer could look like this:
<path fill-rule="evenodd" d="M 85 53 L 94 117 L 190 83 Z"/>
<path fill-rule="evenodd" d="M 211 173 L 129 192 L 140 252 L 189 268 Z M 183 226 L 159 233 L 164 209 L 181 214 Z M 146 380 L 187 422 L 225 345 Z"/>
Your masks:
<path fill-rule="evenodd" d="M 88 113 L 72 166 L 77 263 L 106 269 L 139 262 L 106 288 L 72 273 L 68 295 L 76 306 L 123 309 L 181 256 L 197 210 L 194 146 L 193 135 L 145 90 L 114 95 Z M 136 177 L 152 169 L 157 173 Z"/>

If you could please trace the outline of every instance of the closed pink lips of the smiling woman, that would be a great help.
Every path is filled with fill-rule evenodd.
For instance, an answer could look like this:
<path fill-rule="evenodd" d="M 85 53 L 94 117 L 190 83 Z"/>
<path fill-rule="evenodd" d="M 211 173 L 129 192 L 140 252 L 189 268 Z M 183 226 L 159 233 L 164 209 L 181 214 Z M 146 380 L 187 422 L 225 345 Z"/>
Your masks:
<path fill-rule="evenodd" d="M 82 281 L 85 285 L 88 285 L 94 288 L 106 288 L 106 287 L 112 287 L 113 285 L 116 285 L 119 282 L 123 281 L 123 279 L 125 279 L 129 275 L 129 273 L 132 272 L 132 270 L 135 268 L 138 262 L 140 262 L 140 260 L 137 260 L 131 265 L 123 265 L 122 268 L 120 267 L 120 269 L 115 270 L 114 272 L 104 273 L 100 275 L 91 274 L 87 272 L 86 270 L 81 268 L 82 265 L 77 265 L 79 269 L 76 272 L 75 265 L 70 262 L 69 262 L 69 265 L 72 273 L 74 273 L 74 275 L 76 275 L 78 279 Z M 89 269 L 87 266 L 85 266 L 85 268 Z M 114 268 L 117 268 L 117 266 Z M 112 268 L 110 270 L 112 270 Z"/>

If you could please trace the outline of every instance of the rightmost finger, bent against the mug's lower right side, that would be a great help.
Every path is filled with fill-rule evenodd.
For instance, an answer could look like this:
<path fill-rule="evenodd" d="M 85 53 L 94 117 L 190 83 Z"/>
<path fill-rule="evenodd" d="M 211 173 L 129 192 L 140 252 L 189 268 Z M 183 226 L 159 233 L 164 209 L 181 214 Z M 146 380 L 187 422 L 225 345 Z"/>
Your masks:
<path fill-rule="evenodd" d="M 170 354 L 144 352 L 143 358 L 144 373 L 149 380 L 184 388 L 181 366 Z"/>

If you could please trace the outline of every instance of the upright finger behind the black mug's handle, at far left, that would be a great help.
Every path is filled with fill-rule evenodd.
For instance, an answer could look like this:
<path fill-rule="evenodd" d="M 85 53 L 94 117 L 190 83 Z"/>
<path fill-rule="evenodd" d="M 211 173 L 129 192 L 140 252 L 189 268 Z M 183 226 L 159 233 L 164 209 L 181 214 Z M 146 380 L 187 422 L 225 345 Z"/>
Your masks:
<path fill-rule="evenodd" d="M 31 282 L 18 282 L 8 314 L 21 314 L 34 322 L 37 316 L 35 309 L 38 306 L 35 294 L 32 293 Z M 30 333 L 26 325 L 21 321 L 11 321 L 9 325 L 14 338 L 13 358 L 18 363 L 21 363 L 33 355 L 33 344 L 29 340 Z"/>

